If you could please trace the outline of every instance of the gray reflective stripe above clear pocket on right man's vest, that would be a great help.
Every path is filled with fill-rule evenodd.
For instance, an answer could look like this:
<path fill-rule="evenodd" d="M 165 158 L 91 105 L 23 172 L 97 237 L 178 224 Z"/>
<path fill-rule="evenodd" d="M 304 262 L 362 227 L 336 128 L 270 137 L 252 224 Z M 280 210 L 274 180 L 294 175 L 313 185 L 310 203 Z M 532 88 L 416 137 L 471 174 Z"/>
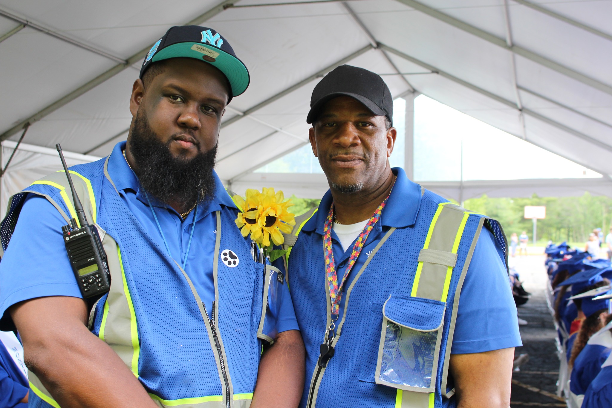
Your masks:
<path fill-rule="evenodd" d="M 454 204 L 441 204 L 441 209 L 438 209 L 438 217 L 434 217 L 431 221 L 433 231 L 428 233 L 430 236 L 429 242 L 425 241 L 426 248 L 430 250 L 443 251 L 446 253 L 453 252 L 453 245 L 457 238 L 457 232 L 461 228 L 461 221 L 465 216 L 465 210 Z M 430 229 L 431 229 L 430 227 Z M 461 237 L 459 237 L 460 239 Z M 444 298 L 444 286 L 447 281 L 447 273 L 449 267 L 441 264 L 431 264 L 430 262 L 422 262 L 420 265 L 420 274 L 418 280 L 415 279 L 417 285 L 417 297 L 425 299 L 442 300 Z M 414 292 L 414 289 L 413 291 Z"/>

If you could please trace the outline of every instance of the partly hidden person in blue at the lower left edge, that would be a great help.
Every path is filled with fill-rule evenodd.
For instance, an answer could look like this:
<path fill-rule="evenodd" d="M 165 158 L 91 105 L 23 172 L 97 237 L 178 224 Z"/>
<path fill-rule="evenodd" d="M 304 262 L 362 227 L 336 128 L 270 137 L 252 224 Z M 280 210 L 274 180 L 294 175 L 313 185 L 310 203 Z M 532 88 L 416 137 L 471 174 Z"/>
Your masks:
<path fill-rule="evenodd" d="M 28 406 L 28 368 L 23 347 L 13 332 L 0 332 L 0 408 Z"/>

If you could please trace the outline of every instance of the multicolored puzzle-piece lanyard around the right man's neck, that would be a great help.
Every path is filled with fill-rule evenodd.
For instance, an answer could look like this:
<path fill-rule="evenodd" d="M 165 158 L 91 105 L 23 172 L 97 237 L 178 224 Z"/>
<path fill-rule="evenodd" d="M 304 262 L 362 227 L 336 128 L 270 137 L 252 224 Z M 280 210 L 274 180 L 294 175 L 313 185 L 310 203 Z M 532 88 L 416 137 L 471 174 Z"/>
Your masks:
<path fill-rule="evenodd" d="M 394 181 L 395 184 L 395 181 Z M 391 187 L 393 190 L 393 186 Z M 342 299 L 342 288 L 348 278 L 349 273 L 351 273 L 351 269 L 353 269 L 353 265 L 359 258 L 359 254 L 361 250 L 364 249 L 365 241 L 368 239 L 368 235 L 374 228 L 375 224 L 381 218 L 381 214 L 383 213 L 384 206 L 387 204 L 387 200 L 391 192 L 389 191 L 389 195 L 384 199 L 383 202 L 376 208 L 376 211 L 373 213 L 372 217 L 365 224 L 363 231 L 357 237 L 355 244 L 353 245 L 353 251 L 351 251 L 351 258 L 349 258 L 348 264 L 346 265 L 346 271 L 344 276 L 342 277 L 342 281 L 338 285 L 338 275 L 336 273 L 336 266 L 334 262 L 334 250 L 332 249 L 332 222 L 334 221 L 334 203 L 329 208 L 329 213 L 327 214 L 327 218 L 325 220 L 325 225 L 323 227 L 323 253 L 325 256 L 325 272 L 327 276 L 327 286 L 329 287 L 329 297 L 331 300 L 331 309 L 330 309 L 330 325 L 325 332 L 325 341 L 321 344 L 321 355 L 319 357 L 319 366 L 326 366 L 327 361 L 334 355 L 334 347 L 331 346 L 332 341 L 334 341 L 335 337 L 335 321 L 338 319 L 338 314 L 340 313 L 340 300 Z M 324 365 L 322 365 L 324 364 Z"/>

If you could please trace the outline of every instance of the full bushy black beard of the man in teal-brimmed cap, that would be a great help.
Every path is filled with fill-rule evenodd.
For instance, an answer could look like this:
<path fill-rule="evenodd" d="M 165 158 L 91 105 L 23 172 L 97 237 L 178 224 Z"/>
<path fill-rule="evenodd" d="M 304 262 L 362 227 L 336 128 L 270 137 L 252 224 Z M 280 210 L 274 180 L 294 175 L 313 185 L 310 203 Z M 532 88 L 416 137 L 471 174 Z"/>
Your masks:
<path fill-rule="evenodd" d="M 171 138 L 162 143 L 151 129 L 145 113 L 136 114 L 130 136 L 130 152 L 135 161 L 134 172 L 147 193 L 166 204 L 189 209 L 196 202 L 208 201 L 215 191 L 217 145 L 207 152 L 187 159 L 170 152 Z M 200 144 L 196 141 L 196 147 Z"/>

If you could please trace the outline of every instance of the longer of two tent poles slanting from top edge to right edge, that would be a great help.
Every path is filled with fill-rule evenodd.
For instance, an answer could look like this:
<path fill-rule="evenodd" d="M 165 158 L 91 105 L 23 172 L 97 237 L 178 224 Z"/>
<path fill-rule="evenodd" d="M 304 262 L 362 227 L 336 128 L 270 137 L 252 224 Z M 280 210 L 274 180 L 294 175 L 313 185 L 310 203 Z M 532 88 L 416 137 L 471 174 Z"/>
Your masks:
<path fill-rule="evenodd" d="M 524 57 L 526 59 L 529 59 L 532 62 L 559 72 L 565 76 L 569 76 L 569 78 L 573 78 L 574 80 L 577 80 L 585 85 L 588 85 L 595 89 L 599 89 L 599 91 L 605 92 L 606 94 L 612 95 L 612 86 L 605 84 L 599 80 L 595 80 L 594 78 L 584 75 L 583 73 L 570 69 L 569 67 L 565 67 L 565 65 L 559 64 L 558 62 L 554 62 L 546 57 L 541 56 L 540 54 L 526 50 L 525 48 L 518 45 L 508 46 L 506 40 L 500 39 L 487 31 L 476 28 L 471 24 L 465 23 L 464 21 L 458 20 L 457 18 L 451 17 L 450 15 L 439 12 L 436 9 L 432 9 L 429 6 L 425 6 L 425 4 L 422 4 L 420 2 L 414 0 L 396 1 L 400 2 L 401 4 L 404 4 L 405 6 L 412 7 L 412 9 L 425 13 L 430 17 L 436 18 L 437 20 L 444 21 L 444 23 L 450 24 L 455 28 L 461 29 L 465 32 L 469 32 L 469 34 L 476 35 L 476 37 L 479 37 L 480 39 L 483 39 L 493 45 L 497 45 L 501 48 L 512 51 L 513 53 L 520 55 L 521 57 Z"/>

